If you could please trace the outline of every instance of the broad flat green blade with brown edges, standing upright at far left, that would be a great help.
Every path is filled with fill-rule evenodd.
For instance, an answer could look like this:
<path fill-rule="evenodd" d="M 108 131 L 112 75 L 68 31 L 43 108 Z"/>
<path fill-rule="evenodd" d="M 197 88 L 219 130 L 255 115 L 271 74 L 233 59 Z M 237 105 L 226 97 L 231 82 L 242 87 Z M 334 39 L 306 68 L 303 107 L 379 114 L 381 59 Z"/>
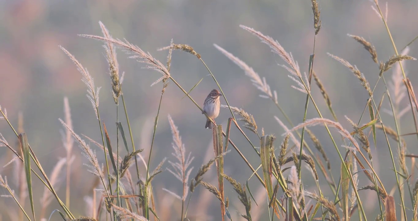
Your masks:
<path fill-rule="evenodd" d="M 28 183 L 28 192 L 29 192 L 29 200 L 31 201 L 31 209 L 33 220 L 36 220 L 35 217 L 35 208 L 33 206 L 33 194 L 32 194 L 32 177 L 31 177 L 31 152 L 29 149 L 28 144 L 28 136 L 26 133 L 19 134 L 19 141 L 20 147 L 22 148 L 23 153 L 23 162 L 25 164 L 25 175 L 26 175 L 26 182 Z"/>

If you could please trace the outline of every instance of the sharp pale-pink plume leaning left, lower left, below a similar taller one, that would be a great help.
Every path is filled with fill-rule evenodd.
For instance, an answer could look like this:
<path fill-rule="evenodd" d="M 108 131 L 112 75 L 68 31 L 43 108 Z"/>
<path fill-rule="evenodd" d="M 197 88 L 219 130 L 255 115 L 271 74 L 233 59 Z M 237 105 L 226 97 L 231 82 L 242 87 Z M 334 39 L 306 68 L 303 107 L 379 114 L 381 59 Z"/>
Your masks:
<path fill-rule="evenodd" d="M 99 161 L 97 160 L 96 157 L 96 152 L 93 151 L 90 148 L 89 144 L 86 144 L 86 142 L 81 139 L 80 136 L 78 136 L 78 134 L 76 134 L 73 129 L 69 128 L 69 126 L 64 123 L 64 121 L 62 121 L 61 119 L 59 119 L 59 121 L 62 123 L 62 125 L 64 125 L 64 127 L 69 130 L 71 132 L 71 135 L 74 137 L 74 139 L 77 141 L 77 143 L 79 144 L 80 148 L 83 150 L 83 155 L 85 157 L 87 157 L 87 159 L 89 159 L 90 164 L 85 164 L 87 167 L 90 168 L 89 172 L 91 172 L 93 175 L 96 175 L 98 177 L 100 177 L 102 179 L 103 185 L 104 185 L 104 173 L 103 173 L 103 166 L 100 167 L 99 165 Z M 104 187 L 106 187 L 106 185 L 104 185 Z"/>

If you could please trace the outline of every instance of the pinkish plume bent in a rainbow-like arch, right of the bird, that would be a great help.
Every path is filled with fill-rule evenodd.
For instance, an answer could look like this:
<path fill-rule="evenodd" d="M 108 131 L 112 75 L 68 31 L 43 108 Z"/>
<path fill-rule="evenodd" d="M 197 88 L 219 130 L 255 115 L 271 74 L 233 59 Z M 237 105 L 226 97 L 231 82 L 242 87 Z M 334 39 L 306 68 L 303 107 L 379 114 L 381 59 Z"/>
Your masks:
<path fill-rule="evenodd" d="M 358 143 L 357 143 L 357 141 L 354 139 L 354 137 L 352 137 L 352 136 L 350 135 L 350 132 L 349 132 L 349 131 L 347 131 L 346 129 L 344 129 L 344 128 L 341 126 L 341 124 L 340 124 L 340 123 L 335 122 L 335 121 L 331 121 L 330 119 L 326 119 L 326 118 L 312 118 L 312 119 L 310 119 L 310 120 L 306 120 L 306 121 L 305 121 L 305 123 L 300 123 L 300 124 L 296 125 L 295 127 L 291 128 L 289 131 L 287 131 L 286 133 L 284 133 L 284 134 L 282 134 L 282 135 L 288 134 L 288 133 L 290 133 L 290 132 L 292 132 L 292 131 L 296 131 L 296 130 L 298 130 L 298 129 L 300 129 L 300 128 L 307 127 L 307 126 L 316 126 L 316 125 L 322 125 L 322 126 L 324 126 L 324 123 L 325 123 L 327 126 L 331 126 L 331 127 L 334 127 L 334 128 L 336 128 L 336 129 L 338 129 L 338 132 L 339 132 L 339 133 L 340 133 L 343 137 L 345 137 L 345 138 L 349 139 L 349 141 L 351 141 L 351 142 L 352 142 L 352 144 L 355 146 L 355 148 L 356 148 L 358 151 L 360 151 L 360 146 L 359 146 L 359 144 L 358 144 Z"/>

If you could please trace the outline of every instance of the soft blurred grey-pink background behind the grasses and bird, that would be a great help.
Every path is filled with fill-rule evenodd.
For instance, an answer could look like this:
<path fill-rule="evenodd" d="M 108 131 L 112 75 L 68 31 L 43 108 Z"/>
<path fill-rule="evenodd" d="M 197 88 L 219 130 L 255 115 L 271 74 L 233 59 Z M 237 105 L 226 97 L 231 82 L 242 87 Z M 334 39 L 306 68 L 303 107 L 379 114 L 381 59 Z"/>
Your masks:
<path fill-rule="evenodd" d="M 378 59 L 383 62 L 394 54 L 393 47 L 385 26 L 371 8 L 372 2 L 319 0 L 318 3 L 322 29 L 316 37 L 314 70 L 329 93 L 339 121 L 351 131 L 351 126 L 345 121 L 344 116 L 357 122 L 368 95 L 357 77 L 326 53 L 329 52 L 355 64 L 373 87 L 379 74 L 378 66 L 373 63 L 369 53 L 347 36 L 347 33 L 362 36 L 370 41 L 376 47 Z M 380 5 L 385 10 L 385 2 L 381 1 Z M 388 25 L 400 50 L 418 35 L 418 26 L 416 26 L 418 4 L 413 0 L 397 0 L 388 1 L 387 7 Z M 65 96 L 69 99 L 74 131 L 97 141 L 101 139 L 93 108 L 85 96 L 87 87 L 82 83 L 82 76 L 75 65 L 59 49 L 59 45 L 66 48 L 89 70 L 97 87 L 102 87 L 99 94 L 99 111 L 103 121 L 108 125 L 111 139 L 113 137 L 112 141 L 115 142 L 116 107 L 111 94 L 109 70 L 102 42 L 77 36 L 77 34 L 102 35 L 99 21 L 104 23 L 114 38 L 127 39 L 144 51 L 149 51 L 163 64 L 166 62 L 168 51 L 156 51 L 156 49 L 168 46 L 171 39 L 176 44 L 192 46 L 219 81 L 229 104 L 253 114 L 259 132 L 263 127 L 266 134 L 277 136 L 276 147 L 280 146 L 283 140 L 281 134 L 284 130 L 275 121 L 274 116 L 285 122 L 283 115 L 271 100 L 258 96 L 261 92 L 252 86 L 250 78 L 215 49 L 213 44 L 218 44 L 239 57 L 261 77 L 265 77 L 271 89 L 277 91 L 279 104 L 294 124 L 301 123 L 303 119 L 306 95 L 291 88 L 294 82 L 287 77 L 289 73 L 278 66 L 285 64 L 283 60 L 239 25 L 254 28 L 273 37 L 286 51 L 293 54 L 301 71 L 307 72 L 309 55 L 312 54 L 314 43 L 313 13 L 309 0 L 0 0 L 0 105 L 2 110 L 7 109 L 8 118 L 15 127 L 18 125 L 18 113 L 22 113 L 23 129 L 28 134 L 29 142 L 47 174 L 51 173 L 61 157 L 65 157 L 60 134 L 63 126 L 58 120 L 64 118 Z M 412 57 L 418 57 L 417 44 L 415 42 L 410 46 L 409 55 Z M 134 59 L 128 59 L 128 55 L 123 51 L 118 50 L 117 53 L 120 71 L 125 72 L 122 87 L 134 141 L 137 148 L 145 149 L 143 155 L 147 159 L 162 83 L 153 87 L 150 85 L 160 78 L 161 74 L 141 69 L 143 65 Z M 417 90 L 417 62 L 405 62 L 404 68 Z M 199 104 L 203 104 L 210 90 L 217 88 L 208 74 L 206 68 L 193 55 L 183 51 L 173 51 L 171 75 L 185 90 L 190 90 L 203 78 L 191 92 L 191 96 Z M 391 75 L 392 70 L 385 73 L 387 81 L 390 81 Z M 332 118 L 318 88 L 314 85 L 312 88 L 316 103 L 324 117 Z M 384 90 L 385 87 L 380 82 L 375 98 L 380 100 Z M 184 94 L 176 85 L 173 83 L 168 85 L 163 96 L 150 167 L 155 168 L 164 157 L 168 157 L 170 161 L 175 160 L 171 155 L 173 148 L 167 120 L 169 114 L 178 126 L 186 152 L 191 152 L 191 156 L 194 157 L 191 165 L 194 167 L 191 177 L 194 177 L 201 164 L 213 157 L 212 134 L 204 129 L 205 118 L 199 109 L 188 98 L 183 97 Z M 221 103 L 226 104 L 224 100 Z M 400 106 L 403 108 L 408 104 L 405 98 Z M 383 108 L 390 109 L 387 99 L 383 103 Z M 123 113 L 122 106 L 119 110 Z M 216 121 L 226 127 L 229 117 L 229 111 L 222 109 Z M 314 117 L 318 115 L 310 104 L 308 119 Z M 384 123 L 394 128 L 392 116 L 382 112 L 382 117 L 386 119 Z M 126 125 L 123 115 L 120 115 L 120 121 L 124 126 Z M 366 122 L 367 119 L 362 121 L 362 123 Z M 410 111 L 401 118 L 400 124 L 401 133 L 414 131 Z M 286 125 L 291 127 L 288 123 Z M 125 128 L 126 131 L 127 126 Z M 338 175 L 340 161 L 329 136 L 321 126 L 312 128 L 312 131 L 318 136 L 330 157 L 334 174 Z M 4 120 L 0 121 L 0 133 L 10 145 L 18 148 L 17 138 Z M 250 131 L 246 133 L 258 146 L 258 137 Z M 393 166 L 392 163 L 385 163 L 391 161 L 384 135 L 379 131 L 377 136 L 377 148 L 372 147 L 373 163 L 386 189 L 390 191 L 396 185 Z M 260 159 L 236 128 L 232 129 L 231 137 L 252 165 L 257 167 Z M 334 137 L 339 138 L 335 131 Z M 418 154 L 416 138 L 414 138 L 415 136 L 405 137 L 409 153 Z M 341 139 L 337 141 L 338 145 L 342 144 Z M 308 140 L 308 144 L 312 142 Z M 396 150 L 396 143 L 391 141 L 391 144 Z M 72 164 L 70 210 L 76 216 L 91 216 L 87 206 L 89 203 L 85 199 L 88 199 L 86 196 L 92 197 L 92 185 L 95 180 L 83 165 L 87 163 L 87 159 L 82 157 L 80 152 L 79 148 L 74 149 L 76 159 Z M 100 162 L 104 162 L 103 154 L 98 149 L 97 156 Z M 2 147 L 0 149 L 2 165 L 10 159 L 12 159 L 10 150 Z M 410 167 L 409 159 L 407 165 Z M 163 169 L 166 167 L 169 167 L 168 163 L 164 164 Z M 14 164 L 0 168 L 0 174 L 8 176 L 12 188 L 17 182 L 15 169 Z M 241 183 L 245 183 L 251 175 L 250 169 L 234 150 L 225 157 L 225 173 Z M 302 173 L 308 173 L 308 170 L 303 170 Z M 142 175 L 144 176 L 145 172 Z M 65 170 L 59 177 L 61 182 L 57 188 L 59 195 L 64 198 Z M 317 190 L 314 179 L 306 177 L 303 181 L 306 185 L 305 189 Z M 216 179 L 212 167 L 204 180 L 217 186 Z M 359 179 L 359 186 L 369 184 L 363 174 Z M 38 199 L 44 188 L 39 180 L 33 178 L 33 182 L 36 186 L 35 200 L 39 202 Z M 253 214 L 254 216 L 256 213 L 259 214 L 255 216 L 258 220 L 265 220 L 268 218 L 265 190 L 260 189 L 261 185 L 254 177 L 249 183 L 259 204 L 257 207 L 253 203 Z M 326 182 L 320 181 L 320 184 L 323 186 L 324 194 L 330 196 L 332 193 Z M 162 188 L 180 193 L 181 182 L 164 170 L 153 181 L 153 187 L 157 199 L 156 212 L 161 220 L 176 220 L 173 217 L 179 216 L 181 203 L 162 191 Z M 229 211 L 235 219 L 240 220 L 238 213 L 245 213 L 245 210 L 231 186 L 226 183 L 225 188 L 226 195 L 231 200 Z M 191 197 L 189 216 L 195 220 L 219 220 L 219 201 L 201 187 L 196 191 Z M 0 194 L 7 194 L 7 191 L 0 188 Z M 283 193 L 279 193 L 281 194 Z M 367 209 L 367 214 L 374 218 L 378 211 L 375 193 L 366 190 L 362 196 L 366 202 L 363 205 Z M 398 200 L 397 190 L 394 196 L 395 200 Z M 409 197 L 406 197 L 405 202 L 410 206 Z M 6 210 L 5 205 L 10 209 Z M 25 207 L 30 211 L 28 205 L 29 203 L 25 203 Z M 46 214 L 49 216 L 56 208 L 59 206 L 53 201 Z M 18 206 L 13 199 L 0 198 L 0 217 L 3 217 L 3 220 L 13 219 L 13 213 L 17 211 Z M 400 207 L 397 211 L 400 211 Z M 354 220 L 356 218 L 358 217 L 353 217 Z"/>

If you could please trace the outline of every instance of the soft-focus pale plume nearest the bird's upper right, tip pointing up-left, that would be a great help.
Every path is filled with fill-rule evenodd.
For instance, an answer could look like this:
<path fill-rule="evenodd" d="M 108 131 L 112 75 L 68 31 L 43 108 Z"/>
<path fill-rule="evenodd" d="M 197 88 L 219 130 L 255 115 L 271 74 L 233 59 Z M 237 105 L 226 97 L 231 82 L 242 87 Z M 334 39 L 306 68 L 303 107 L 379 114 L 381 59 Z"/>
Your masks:
<path fill-rule="evenodd" d="M 240 60 L 239 58 L 235 57 L 233 54 L 229 53 L 228 51 L 226 51 L 225 49 L 223 49 L 222 47 L 218 46 L 217 44 L 214 44 L 214 46 L 222 52 L 222 54 L 224 54 L 227 58 L 229 58 L 232 62 L 234 62 L 235 64 L 238 65 L 238 67 L 240 67 L 242 70 L 244 70 L 245 75 L 247 75 L 248 77 L 251 78 L 251 82 L 252 85 L 254 85 L 258 90 L 260 90 L 261 92 L 265 93 L 265 95 L 260 95 L 263 98 L 270 98 L 272 99 L 275 103 L 277 103 L 277 93 L 274 91 L 274 95 L 270 89 L 270 86 L 267 84 L 267 81 L 265 80 L 265 78 L 261 78 L 260 75 L 257 74 L 257 72 L 254 71 L 254 69 L 252 69 L 252 67 L 248 66 L 247 64 L 245 64 L 245 62 L 243 62 L 242 60 Z"/>

